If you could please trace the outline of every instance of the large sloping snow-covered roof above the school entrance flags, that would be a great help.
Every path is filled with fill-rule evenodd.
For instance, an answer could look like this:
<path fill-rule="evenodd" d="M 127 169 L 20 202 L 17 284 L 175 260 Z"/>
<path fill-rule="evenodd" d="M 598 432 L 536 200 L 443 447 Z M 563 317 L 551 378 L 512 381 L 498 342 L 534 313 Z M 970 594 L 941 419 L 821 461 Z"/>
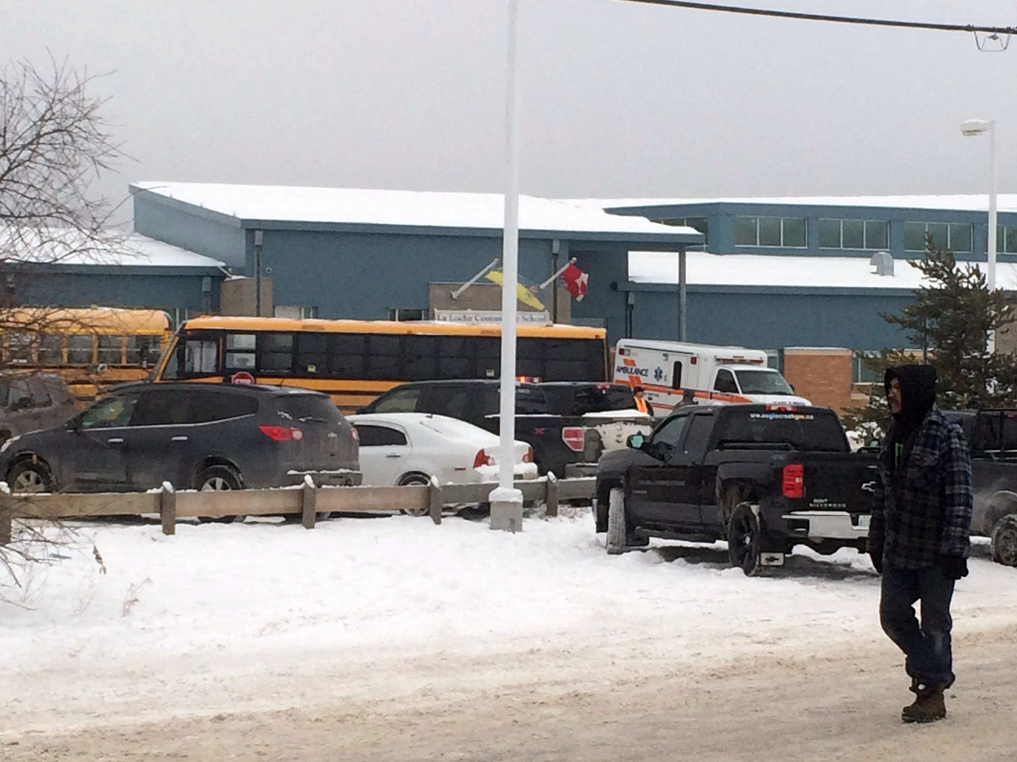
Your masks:
<path fill-rule="evenodd" d="M 131 190 L 149 191 L 243 220 L 501 230 L 504 217 L 500 193 L 161 182 L 134 183 Z M 523 231 L 659 236 L 672 242 L 697 236 L 701 240 L 692 228 L 537 196 L 520 196 L 519 220 Z"/>

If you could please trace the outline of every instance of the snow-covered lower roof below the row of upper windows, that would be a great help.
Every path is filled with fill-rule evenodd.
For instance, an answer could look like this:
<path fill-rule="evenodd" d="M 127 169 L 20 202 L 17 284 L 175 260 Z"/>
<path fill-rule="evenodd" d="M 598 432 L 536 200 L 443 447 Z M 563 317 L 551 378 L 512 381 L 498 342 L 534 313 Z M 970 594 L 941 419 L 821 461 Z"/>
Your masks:
<path fill-rule="evenodd" d="M 765 288 L 902 289 L 922 284 L 921 272 L 903 259 L 894 260 L 893 275 L 877 275 L 862 257 L 799 257 L 767 254 L 711 254 L 691 251 L 685 276 L 690 285 Z M 967 263 L 964 263 L 965 265 Z M 972 263 L 984 267 L 982 263 Z M 678 255 L 673 252 L 629 253 L 629 278 L 643 283 L 678 282 Z M 1001 289 L 1017 291 L 1017 263 L 998 262 Z"/>

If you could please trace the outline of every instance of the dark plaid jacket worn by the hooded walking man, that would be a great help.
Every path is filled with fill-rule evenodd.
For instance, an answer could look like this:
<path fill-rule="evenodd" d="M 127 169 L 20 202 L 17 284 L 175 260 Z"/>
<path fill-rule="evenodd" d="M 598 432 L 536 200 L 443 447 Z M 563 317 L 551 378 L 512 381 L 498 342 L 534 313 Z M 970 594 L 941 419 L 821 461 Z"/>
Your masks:
<path fill-rule="evenodd" d="M 934 406 L 896 473 L 889 439 L 880 450 L 870 552 L 882 547 L 884 561 L 904 569 L 932 566 L 940 556 L 966 557 L 973 495 L 960 427 Z"/>

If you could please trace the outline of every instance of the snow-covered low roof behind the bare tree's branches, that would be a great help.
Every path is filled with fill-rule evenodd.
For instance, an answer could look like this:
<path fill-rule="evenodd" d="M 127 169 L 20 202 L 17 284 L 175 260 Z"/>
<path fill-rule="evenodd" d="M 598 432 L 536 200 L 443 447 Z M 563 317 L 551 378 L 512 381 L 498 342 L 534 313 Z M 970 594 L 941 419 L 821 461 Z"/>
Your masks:
<path fill-rule="evenodd" d="M 33 264 L 95 267 L 197 267 L 219 269 L 218 259 L 138 233 L 114 231 L 91 240 L 74 231 L 0 228 L 0 259 Z"/>

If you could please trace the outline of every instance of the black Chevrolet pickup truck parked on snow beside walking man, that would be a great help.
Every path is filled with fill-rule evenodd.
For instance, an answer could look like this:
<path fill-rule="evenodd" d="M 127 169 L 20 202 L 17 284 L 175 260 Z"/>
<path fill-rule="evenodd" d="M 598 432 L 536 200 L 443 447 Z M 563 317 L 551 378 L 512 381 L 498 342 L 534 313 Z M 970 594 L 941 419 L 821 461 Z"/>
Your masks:
<path fill-rule="evenodd" d="M 601 457 L 596 530 L 610 554 L 650 537 L 726 539 L 745 574 L 782 565 L 795 545 L 864 551 L 875 464 L 825 407 L 682 407 Z"/>

